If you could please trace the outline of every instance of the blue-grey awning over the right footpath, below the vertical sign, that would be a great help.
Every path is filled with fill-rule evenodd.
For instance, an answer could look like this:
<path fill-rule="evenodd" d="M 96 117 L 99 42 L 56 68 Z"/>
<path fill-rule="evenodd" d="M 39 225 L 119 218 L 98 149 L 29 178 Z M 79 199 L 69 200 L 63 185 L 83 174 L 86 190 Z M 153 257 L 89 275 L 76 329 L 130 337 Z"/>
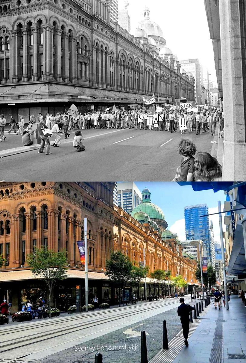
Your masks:
<path fill-rule="evenodd" d="M 243 244 L 242 221 L 238 221 L 233 246 L 231 249 L 230 261 L 228 265 L 229 274 L 241 274 L 246 271 L 245 250 Z"/>

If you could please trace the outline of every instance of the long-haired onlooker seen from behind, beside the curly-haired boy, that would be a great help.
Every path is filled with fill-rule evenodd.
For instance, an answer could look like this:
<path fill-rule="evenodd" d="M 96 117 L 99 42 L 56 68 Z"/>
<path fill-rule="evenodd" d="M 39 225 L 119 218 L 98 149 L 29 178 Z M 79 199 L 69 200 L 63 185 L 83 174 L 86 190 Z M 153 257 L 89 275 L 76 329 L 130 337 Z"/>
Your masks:
<path fill-rule="evenodd" d="M 208 152 L 199 151 L 194 159 L 195 181 L 221 181 L 222 167 Z"/>

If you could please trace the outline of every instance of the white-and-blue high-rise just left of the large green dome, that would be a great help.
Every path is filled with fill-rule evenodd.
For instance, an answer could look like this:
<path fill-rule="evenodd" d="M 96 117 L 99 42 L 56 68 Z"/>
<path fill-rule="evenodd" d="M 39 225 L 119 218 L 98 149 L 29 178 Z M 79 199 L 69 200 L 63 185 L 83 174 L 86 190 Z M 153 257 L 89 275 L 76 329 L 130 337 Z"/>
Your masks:
<path fill-rule="evenodd" d="M 135 207 L 142 203 L 142 193 L 133 181 L 117 183 L 118 207 L 131 213 Z"/>

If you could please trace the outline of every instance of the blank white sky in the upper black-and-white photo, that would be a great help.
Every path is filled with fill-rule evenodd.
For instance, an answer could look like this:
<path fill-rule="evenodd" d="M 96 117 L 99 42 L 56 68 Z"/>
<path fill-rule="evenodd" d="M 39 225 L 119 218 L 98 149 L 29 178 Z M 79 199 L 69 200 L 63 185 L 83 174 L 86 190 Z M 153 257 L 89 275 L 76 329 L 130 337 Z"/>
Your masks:
<path fill-rule="evenodd" d="M 124 9 L 124 0 L 118 0 L 118 9 Z M 157 23 L 173 54 L 179 60 L 198 58 L 203 68 L 211 74 L 210 80 L 217 82 L 214 66 L 212 40 L 210 40 L 204 0 L 128 0 L 128 15 L 134 34 L 142 19 L 142 9 L 147 6 L 150 19 Z"/>

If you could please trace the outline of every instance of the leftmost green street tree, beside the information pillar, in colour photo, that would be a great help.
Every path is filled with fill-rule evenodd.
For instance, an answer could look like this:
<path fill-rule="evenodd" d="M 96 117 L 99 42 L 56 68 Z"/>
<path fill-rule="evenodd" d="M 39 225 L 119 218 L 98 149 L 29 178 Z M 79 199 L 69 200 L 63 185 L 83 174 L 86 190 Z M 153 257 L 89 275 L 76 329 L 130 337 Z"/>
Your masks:
<path fill-rule="evenodd" d="M 27 257 L 27 263 L 31 267 L 33 276 L 43 278 L 49 289 L 49 318 L 50 299 L 53 287 L 57 280 L 67 278 L 67 256 L 66 250 L 55 252 L 42 246 L 40 249 L 34 247 L 32 254 Z"/>

